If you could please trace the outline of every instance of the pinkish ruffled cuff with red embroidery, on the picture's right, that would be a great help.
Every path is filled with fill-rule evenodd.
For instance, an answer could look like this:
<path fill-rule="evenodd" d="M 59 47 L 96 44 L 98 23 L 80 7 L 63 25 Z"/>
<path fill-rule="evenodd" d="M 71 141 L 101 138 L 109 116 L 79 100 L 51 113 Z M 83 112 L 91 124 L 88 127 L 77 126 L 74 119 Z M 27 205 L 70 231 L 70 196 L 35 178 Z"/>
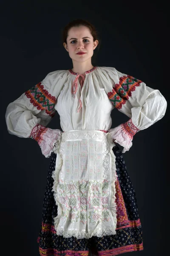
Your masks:
<path fill-rule="evenodd" d="M 133 136 L 140 131 L 135 125 L 133 125 L 132 119 L 129 119 L 127 122 L 109 129 L 108 132 L 111 135 L 111 138 L 114 139 L 116 143 L 123 146 L 122 153 L 125 153 L 132 146 Z"/>

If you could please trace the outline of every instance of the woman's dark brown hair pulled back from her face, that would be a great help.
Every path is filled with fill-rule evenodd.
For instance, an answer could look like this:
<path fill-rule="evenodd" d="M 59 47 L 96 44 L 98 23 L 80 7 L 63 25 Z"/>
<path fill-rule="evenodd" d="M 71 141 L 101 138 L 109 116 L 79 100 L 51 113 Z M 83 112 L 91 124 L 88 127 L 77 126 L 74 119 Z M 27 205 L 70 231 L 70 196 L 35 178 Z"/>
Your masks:
<path fill-rule="evenodd" d="M 79 26 L 86 26 L 88 27 L 88 29 L 91 32 L 91 35 L 93 36 L 93 41 L 98 40 L 99 43 L 97 45 L 97 47 L 94 50 L 94 54 L 91 58 L 91 61 L 93 62 L 92 64 L 95 66 L 96 64 L 96 54 L 99 51 L 100 48 L 100 44 L 101 44 L 101 40 L 99 39 L 99 35 L 98 35 L 98 31 L 96 30 L 95 26 L 93 24 L 91 24 L 88 20 L 82 20 L 82 19 L 77 19 L 77 20 L 72 20 L 71 22 L 69 22 L 64 29 L 62 30 L 62 43 L 66 43 L 67 44 L 67 38 L 68 38 L 68 31 L 69 29 L 71 29 L 72 27 L 79 27 Z"/>

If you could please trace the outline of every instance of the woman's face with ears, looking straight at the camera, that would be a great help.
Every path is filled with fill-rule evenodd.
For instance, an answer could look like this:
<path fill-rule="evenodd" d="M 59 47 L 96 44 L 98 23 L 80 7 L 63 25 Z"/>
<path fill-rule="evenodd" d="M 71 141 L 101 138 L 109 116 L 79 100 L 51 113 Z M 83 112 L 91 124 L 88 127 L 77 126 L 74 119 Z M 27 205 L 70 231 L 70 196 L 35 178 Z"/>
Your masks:
<path fill-rule="evenodd" d="M 98 41 L 93 41 L 93 36 L 86 26 L 72 27 L 68 31 L 67 44 L 63 44 L 73 61 L 84 62 L 93 56 Z M 85 52 L 78 55 L 77 52 Z"/>

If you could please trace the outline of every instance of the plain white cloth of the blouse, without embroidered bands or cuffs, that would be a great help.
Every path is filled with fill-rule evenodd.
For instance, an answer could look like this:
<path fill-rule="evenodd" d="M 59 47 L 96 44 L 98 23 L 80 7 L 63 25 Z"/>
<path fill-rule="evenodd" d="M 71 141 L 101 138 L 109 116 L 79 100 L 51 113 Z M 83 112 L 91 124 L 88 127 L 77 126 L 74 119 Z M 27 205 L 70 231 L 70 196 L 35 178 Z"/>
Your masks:
<path fill-rule="evenodd" d="M 77 93 L 71 93 L 71 86 L 77 77 L 69 70 L 57 70 L 49 73 L 42 80 L 44 89 L 57 100 L 54 105 L 60 116 L 62 131 L 74 129 L 109 130 L 112 125 L 111 111 L 114 105 L 108 98 L 119 78 L 127 76 L 114 67 L 95 67 L 87 72 L 81 90 L 78 81 Z M 79 99 L 82 108 L 79 108 Z M 157 89 L 152 89 L 144 82 L 132 91 L 132 96 L 126 104 L 118 109 L 128 117 L 140 130 L 148 128 L 160 120 L 166 111 L 167 102 Z M 40 123 L 48 125 L 51 121 L 45 111 L 37 110 L 30 99 L 23 93 L 18 99 L 11 102 L 6 110 L 6 124 L 10 134 L 18 137 L 29 137 L 32 128 Z M 114 120 L 113 120 L 114 126 Z"/>

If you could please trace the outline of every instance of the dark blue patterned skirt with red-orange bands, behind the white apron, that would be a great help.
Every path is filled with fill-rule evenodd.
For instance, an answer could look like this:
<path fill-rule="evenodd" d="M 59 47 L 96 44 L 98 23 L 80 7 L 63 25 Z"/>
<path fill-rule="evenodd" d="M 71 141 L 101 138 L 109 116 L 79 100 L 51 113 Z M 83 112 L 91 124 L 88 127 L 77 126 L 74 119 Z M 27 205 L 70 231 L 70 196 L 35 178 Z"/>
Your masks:
<path fill-rule="evenodd" d="M 121 253 L 143 250 L 142 227 L 139 219 L 135 190 L 127 174 L 122 152 L 113 147 L 116 156 L 116 235 L 77 239 L 56 235 L 54 217 L 57 205 L 52 192 L 52 172 L 55 170 L 57 154 L 51 155 L 47 183 L 42 208 L 42 224 L 37 242 L 41 256 L 112 256 Z"/>

